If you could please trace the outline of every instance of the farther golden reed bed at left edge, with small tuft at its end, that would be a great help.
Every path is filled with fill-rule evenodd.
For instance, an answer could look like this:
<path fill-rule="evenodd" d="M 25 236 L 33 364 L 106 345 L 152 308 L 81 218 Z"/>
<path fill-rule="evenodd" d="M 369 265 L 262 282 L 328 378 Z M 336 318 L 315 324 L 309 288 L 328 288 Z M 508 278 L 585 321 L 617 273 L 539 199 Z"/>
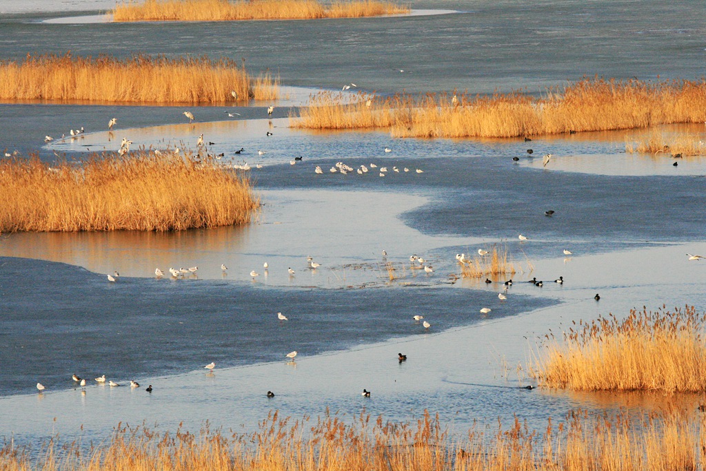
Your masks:
<path fill-rule="evenodd" d="M 222 104 L 279 96 L 279 80 L 269 73 L 252 78 L 242 64 L 207 56 L 28 55 L 25 61 L 0 62 L 0 75 L 5 102 Z"/>

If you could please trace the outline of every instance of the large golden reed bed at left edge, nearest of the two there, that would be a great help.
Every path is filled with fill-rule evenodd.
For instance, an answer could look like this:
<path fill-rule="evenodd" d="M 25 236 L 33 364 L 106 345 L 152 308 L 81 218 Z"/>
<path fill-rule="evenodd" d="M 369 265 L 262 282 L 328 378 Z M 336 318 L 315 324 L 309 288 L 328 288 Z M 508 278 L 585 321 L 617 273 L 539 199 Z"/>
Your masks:
<path fill-rule="evenodd" d="M 83 164 L 0 160 L 0 232 L 181 231 L 246 224 L 250 181 L 208 159 L 141 150 Z"/>

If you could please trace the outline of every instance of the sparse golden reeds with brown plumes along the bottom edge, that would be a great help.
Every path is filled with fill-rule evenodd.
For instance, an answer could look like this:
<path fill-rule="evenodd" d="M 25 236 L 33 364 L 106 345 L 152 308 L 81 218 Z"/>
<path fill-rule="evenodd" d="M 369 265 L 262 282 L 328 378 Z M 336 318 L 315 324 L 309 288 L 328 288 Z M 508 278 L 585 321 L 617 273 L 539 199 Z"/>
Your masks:
<path fill-rule="evenodd" d="M 8 471 L 465 471 L 465 470 L 695 470 L 705 462 L 703 415 L 591 415 L 578 410 L 544 432 L 515 419 L 510 427 L 474 427 L 450 439 L 438 416 L 417 424 L 351 424 L 326 415 L 290 424 L 271 412 L 258 432 L 246 435 L 177 429 L 160 434 L 145 427 L 116 428 L 106 444 L 85 449 L 76 442 L 45 444 L 35 458 L 6 445 L 0 467 Z"/>

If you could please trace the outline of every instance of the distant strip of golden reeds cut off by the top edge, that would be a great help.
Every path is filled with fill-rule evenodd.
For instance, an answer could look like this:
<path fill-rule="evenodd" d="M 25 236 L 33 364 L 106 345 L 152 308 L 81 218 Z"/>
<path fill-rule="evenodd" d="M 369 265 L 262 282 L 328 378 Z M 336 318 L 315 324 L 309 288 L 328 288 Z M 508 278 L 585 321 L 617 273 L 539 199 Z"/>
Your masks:
<path fill-rule="evenodd" d="M 359 18 L 409 13 L 409 8 L 377 0 L 146 0 L 128 1 L 113 11 L 113 20 L 124 21 L 229 21 Z"/>

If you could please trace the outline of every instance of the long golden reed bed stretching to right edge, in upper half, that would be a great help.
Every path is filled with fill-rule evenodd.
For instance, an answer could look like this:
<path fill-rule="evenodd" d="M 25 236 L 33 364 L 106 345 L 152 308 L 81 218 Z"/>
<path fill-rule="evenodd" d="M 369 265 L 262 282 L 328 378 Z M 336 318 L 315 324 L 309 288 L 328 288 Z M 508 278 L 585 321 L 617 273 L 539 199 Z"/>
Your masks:
<path fill-rule="evenodd" d="M 323 93 L 292 116 L 315 129 L 389 128 L 393 137 L 519 137 L 646 128 L 706 121 L 706 80 L 642 82 L 584 79 L 548 90 L 491 96 L 397 94 L 367 109 Z"/>

